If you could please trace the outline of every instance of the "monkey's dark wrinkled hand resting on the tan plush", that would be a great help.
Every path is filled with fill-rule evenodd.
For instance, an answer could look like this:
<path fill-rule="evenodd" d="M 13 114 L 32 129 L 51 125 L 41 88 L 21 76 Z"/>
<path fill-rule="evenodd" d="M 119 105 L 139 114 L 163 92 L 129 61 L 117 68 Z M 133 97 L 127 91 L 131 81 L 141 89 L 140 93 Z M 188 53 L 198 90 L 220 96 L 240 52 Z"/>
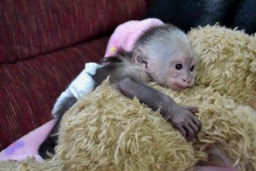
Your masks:
<path fill-rule="evenodd" d="M 195 117 L 198 108 L 195 106 L 177 105 L 172 100 L 171 104 L 163 105 L 160 109 L 161 114 L 181 132 L 183 137 L 188 141 L 193 140 L 201 129 L 201 122 Z"/>

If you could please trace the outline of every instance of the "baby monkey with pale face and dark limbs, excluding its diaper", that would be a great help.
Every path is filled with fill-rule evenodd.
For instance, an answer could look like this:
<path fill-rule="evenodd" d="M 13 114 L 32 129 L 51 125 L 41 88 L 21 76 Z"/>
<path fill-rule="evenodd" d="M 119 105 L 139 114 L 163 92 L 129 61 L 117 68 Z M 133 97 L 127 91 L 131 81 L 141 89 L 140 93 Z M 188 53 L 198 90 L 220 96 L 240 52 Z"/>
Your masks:
<path fill-rule="evenodd" d="M 177 128 L 188 141 L 195 138 L 201 128 L 195 117 L 198 108 L 182 106 L 166 94 L 147 86 L 157 82 L 167 88 L 183 91 L 195 82 L 195 51 L 189 37 L 176 26 L 155 26 L 137 39 L 132 52 L 119 50 L 117 55 L 104 58 L 103 66 L 92 76 L 95 88 L 109 75 L 110 83 L 121 94 L 137 99 L 152 110 L 160 109 L 160 114 Z M 54 153 L 57 137 L 55 134 L 61 117 L 77 100 L 71 98 L 63 103 L 55 127 L 49 137 L 39 147 L 39 154 L 46 158 L 46 151 Z"/>

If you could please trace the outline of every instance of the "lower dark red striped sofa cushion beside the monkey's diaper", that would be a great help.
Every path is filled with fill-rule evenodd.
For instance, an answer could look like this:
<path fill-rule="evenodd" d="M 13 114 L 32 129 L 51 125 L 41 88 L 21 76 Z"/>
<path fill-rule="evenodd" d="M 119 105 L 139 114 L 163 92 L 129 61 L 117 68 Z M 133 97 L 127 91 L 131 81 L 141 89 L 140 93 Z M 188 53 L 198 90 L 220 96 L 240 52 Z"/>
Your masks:
<path fill-rule="evenodd" d="M 0 148 L 51 119 L 55 100 L 84 63 L 101 59 L 108 38 L 0 66 Z"/>

